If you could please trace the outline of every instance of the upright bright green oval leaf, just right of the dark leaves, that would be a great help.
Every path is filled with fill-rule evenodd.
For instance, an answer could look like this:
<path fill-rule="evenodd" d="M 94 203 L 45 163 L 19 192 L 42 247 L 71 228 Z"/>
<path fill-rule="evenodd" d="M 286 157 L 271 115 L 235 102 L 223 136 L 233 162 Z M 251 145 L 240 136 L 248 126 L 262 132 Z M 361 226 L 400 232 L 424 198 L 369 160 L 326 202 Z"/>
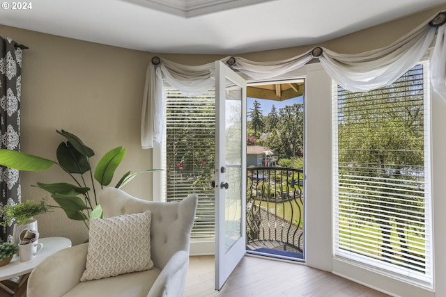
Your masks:
<path fill-rule="evenodd" d="M 95 170 L 95 179 L 102 185 L 108 186 L 112 182 L 114 172 L 125 156 L 125 148 L 115 147 L 102 156 Z"/>

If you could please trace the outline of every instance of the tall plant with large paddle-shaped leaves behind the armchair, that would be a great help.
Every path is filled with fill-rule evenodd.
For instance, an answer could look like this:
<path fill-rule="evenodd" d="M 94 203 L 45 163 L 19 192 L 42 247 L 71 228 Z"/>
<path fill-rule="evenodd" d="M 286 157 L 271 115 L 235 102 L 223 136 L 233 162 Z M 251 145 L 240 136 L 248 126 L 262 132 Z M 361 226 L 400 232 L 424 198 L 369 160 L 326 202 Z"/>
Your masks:
<path fill-rule="evenodd" d="M 96 198 L 95 181 L 100 184 L 101 188 L 112 182 L 114 172 L 125 156 L 125 148 L 115 147 L 107 152 L 93 170 L 90 158 L 95 155 L 95 152 L 84 145 L 80 138 L 74 134 L 64 130 L 56 130 L 56 132 L 67 140 L 57 147 L 57 161 L 14 150 L 0 149 L 0 165 L 25 171 L 43 171 L 51 168 L 54 164 L 59 166 L 70 176 L 73 181 L 72 184 L 66 182 L 43 184 L 38 182 L 34 186 L 51 193 L 51 197 L 59 204 L 59 206 L 52 207 L 62 208 L 68 218 L 82 220 L 88 228 L 89 218 L 102 217 L 102 209 Z M 154 170 L 158 169 L 132 174 L 129 171 L 121 177 L 115 187 L 121 188 L 136 175 Z"/>

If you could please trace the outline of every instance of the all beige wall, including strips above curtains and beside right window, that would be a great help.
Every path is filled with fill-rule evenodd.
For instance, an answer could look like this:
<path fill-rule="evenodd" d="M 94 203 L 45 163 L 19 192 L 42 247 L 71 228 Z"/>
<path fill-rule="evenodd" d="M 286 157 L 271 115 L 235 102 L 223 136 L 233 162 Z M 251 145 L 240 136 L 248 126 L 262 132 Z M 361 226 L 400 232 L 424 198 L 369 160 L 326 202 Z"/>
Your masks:
<path fill-rule="evenodd" d="M 395 22 L 359 31 L 321 44 L 334 51 L 355 53 L 393 42 L 446 5 Z M 128 154 L 119 170 L 136 172 L 151 168 L 151 150 L 141 150 L 139 120 L 146 66 L 154 54 L 98 45 L 68 38 L 0 26 L 0 35 L 9 36 L 29 49 L 24 51 L 22 73 L 22 151 L 55 158 L 55 148 L 63 138 L 56 129 L 80 136 L 95 150 L 98 161 L 107 150 L 123 145 Z M 240 54 L 253 61 L 275 61 L 301 54 L 313 46 Z M 223 56 L 157 54 L 188 65 L 215 61 Z M 307 262 L 332 271 L 331 119 L 330 78 L 308 65 L 295 75 L 307 78 Z M 319 85 L 321 87 L 319 87 Z M 446 184 L 446 104 L 433 97 L 433 197 L 436 206 L 434 230 L 436 279 L 446 278 L 446 249 L 441 226 L 446 225 L 443 195 Z M 64 176 L 54 168 L 47 172 L 22 172 L 22 196 L 38 200 L 45 192 L 31 188 L 36 182 L 56 182 Z M 326 187 L 321 187 L 325 184 Z M 151 199 L 150 176 L 138 177 L 126 191 Z M 317 211 L 316 211 L 317 209 Z M 68 220 L 61 211 L 38 216 L 42 236 L 67 236 L 74 244 L 87 239 L 81 222 Z M 446 284 L 436 282 L 436 296 L 446 296 Z M 375 285 L 375 284 L 370 284 Z M 379 289 L 379 287 L 378 287 Z M 433 296 L 433 295 L 428 295 Z"/>

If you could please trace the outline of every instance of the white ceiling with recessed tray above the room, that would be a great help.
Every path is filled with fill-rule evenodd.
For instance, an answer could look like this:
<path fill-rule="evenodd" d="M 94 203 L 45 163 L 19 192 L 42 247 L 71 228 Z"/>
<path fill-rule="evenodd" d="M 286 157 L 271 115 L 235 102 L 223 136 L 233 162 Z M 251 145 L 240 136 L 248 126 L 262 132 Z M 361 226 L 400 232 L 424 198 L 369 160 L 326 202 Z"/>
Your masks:
<path fill-rule="evenodd" d="M 3 1 L 13 4 L 10 0 Z M 175 54 L 243 54 L 316 44 L 446 3 L 445 0 L 30 2 L 31 10 L 0 9 L 0 24 L 128 49 Z"/>

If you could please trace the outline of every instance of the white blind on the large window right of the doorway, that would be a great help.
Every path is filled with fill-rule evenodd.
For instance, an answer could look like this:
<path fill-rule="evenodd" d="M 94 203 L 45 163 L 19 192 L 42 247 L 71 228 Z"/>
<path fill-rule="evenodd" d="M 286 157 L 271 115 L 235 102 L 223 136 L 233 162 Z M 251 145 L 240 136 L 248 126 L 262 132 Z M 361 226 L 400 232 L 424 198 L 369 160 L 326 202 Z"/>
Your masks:
<path fill-rule="evenodd" d="M 334 256 L 431 284 L 426 72 L 368 93 L 334 85 Z"/>

